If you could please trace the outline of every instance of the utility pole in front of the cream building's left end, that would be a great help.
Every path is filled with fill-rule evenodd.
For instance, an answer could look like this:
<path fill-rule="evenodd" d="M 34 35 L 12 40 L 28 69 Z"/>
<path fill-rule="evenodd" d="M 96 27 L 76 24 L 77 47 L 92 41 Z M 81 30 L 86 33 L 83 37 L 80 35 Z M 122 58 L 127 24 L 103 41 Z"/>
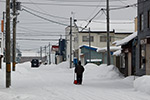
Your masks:
<path fill-rule="evenodd" d="M 72 17 L 70 17 L 70 68 L 72 68 Z"/>

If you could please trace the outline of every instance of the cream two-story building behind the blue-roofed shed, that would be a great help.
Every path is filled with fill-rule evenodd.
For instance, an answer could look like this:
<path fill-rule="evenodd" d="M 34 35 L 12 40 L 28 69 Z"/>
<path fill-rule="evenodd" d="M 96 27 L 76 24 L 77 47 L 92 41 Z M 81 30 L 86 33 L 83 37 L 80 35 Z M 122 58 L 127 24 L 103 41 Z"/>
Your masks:
<path fill-rule="evenodd" d="M 93 26 L 97 26 L 97 24 L 93 25 L 93 26 L 92 25 L 89 26 L 91 28 L 91 30 L 88 30 L 88 29 L 82 30 L 82 29 L 80 29 L 79 24 L 75 24 L 72 27 L 72 50 L 73 50 L 72 58 L 76 57 L 78 60 L 81 60 L 81 56 L 83 55 L 82 54 L 83 52 L 81 52 L 80 47 L 83 45 L 86 45 L 89 47 L 90 46 L 97 47 L 97 48 L 104 48 L 107 46 L 107 32 L 102 31 L 102 29 L 100 29 L 99 27 L 97 28 L 97 30 L 95 30 L 93 28 Z M 105 26 L 105 24 L 102 23 L 99 26 Z M 120 28 L 119 25 L 118 25 L 118 27 Z M 122 28 L 128 28 L 128 27 L 132 28 L 131 26 L 128 26 L 128 25 L 125 25 Z M 117 29 L 117 26 L 115 29 Z M 112 42 L 114 42 L 116 40 L 121 40 L 124 37 L 126 37 L 132 33 L 131 30 L 125 31 L 125 29 L 124 29 L 122 31 L 119 31 L 119 30 L 116 31 L 115 29 L 113 29 L 113 27 L 110 29 L 111 30 L 110 31 L 110 46 L 112 46 Z M 133 29 L 134 29 L 134 25 L 133 25 Z M 105 30 L 105 28 L 103 28 L 103 30 Z M 66 28 L 66 40 L 67 40 L 67 42 L 66 42 L 67 43 L 66 58 L 69 60 L 69 58 L 70 58 L 70 27 Z"/>

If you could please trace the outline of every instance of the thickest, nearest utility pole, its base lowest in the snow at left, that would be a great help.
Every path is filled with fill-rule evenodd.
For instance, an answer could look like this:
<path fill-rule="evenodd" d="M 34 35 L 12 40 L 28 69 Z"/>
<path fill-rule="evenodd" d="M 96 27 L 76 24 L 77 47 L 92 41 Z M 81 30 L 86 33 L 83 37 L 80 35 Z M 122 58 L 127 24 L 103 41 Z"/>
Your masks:
<path fill-rule="evenodd" d="M 10 63 L 10 0 L 6 0 L 6 88 L 11 85 Z"/>

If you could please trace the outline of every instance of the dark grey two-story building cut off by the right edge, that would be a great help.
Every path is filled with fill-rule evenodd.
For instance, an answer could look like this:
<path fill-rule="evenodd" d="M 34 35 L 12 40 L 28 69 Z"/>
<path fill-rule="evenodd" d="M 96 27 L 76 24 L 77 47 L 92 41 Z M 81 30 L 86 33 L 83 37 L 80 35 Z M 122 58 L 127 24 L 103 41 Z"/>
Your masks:
<path fill-rule="evenodd" d="M 138 0 L 136 75 L 150 75 L 150 0 Z"/>

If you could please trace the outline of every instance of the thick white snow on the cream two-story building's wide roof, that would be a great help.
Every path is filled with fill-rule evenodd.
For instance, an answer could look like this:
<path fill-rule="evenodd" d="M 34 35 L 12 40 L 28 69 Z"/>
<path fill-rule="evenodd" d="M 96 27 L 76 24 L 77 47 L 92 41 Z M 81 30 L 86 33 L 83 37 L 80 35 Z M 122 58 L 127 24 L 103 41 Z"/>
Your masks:
<path fill-rule="evenodd" d="M 87 25 L 87 21 L 77 21 L 76 25 L 79 31 L 82 30 Z M 91 31 L 104 31 L 106 30 L 106 21 L 104 20 L 93 20 L 88 27 L 83 30 L 87 31 L 90 27 Z M 115 32 L 134 32 L 134 21 L 132 20 L 111 20 L 110 21 L 110 31 L 115 30 Z"/>

